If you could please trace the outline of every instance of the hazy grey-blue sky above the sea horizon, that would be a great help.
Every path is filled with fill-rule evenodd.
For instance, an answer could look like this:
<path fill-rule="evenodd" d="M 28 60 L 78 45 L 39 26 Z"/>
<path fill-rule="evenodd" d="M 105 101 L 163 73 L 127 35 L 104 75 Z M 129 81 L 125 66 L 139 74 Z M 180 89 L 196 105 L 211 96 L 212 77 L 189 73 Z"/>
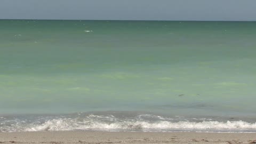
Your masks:
<path fill-rule="evenodd" d="M 0 0 L 0 19 L 256 20 L 256 0 Z"/>

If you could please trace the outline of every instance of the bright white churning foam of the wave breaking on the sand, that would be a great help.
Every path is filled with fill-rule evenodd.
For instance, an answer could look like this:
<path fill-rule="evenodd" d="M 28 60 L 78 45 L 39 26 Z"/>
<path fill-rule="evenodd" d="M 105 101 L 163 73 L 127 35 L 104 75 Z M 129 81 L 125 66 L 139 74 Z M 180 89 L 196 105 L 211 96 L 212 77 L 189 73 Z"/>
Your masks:
<path fill-rule="evenodd" d="M 25 131 L 67 131 L 67 130 L 245 130 L 256 129 L 256 123 L 247 123 L 243 121 L 227 121 L 227 122 L 167 122 L 158 121 L 155 123 L 149 123 L 144 121 L 124 121 L 124 122 L 97 122 L 97 121 L 82 121 L 77 122 L 74 119 L 53 119 L 45 122 L 41 125 L 34 125 L 34 127 L 28 128 Z"/>

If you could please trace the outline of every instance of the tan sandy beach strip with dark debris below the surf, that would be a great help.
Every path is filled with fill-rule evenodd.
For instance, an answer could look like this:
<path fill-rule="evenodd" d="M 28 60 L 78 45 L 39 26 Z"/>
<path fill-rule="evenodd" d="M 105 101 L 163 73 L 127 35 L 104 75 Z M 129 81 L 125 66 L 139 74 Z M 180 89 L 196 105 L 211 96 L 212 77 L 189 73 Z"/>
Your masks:
<path fill-rule="evenodd" d="M 0 143 L 256 143 L 256 133 L 13 132 Z"/>

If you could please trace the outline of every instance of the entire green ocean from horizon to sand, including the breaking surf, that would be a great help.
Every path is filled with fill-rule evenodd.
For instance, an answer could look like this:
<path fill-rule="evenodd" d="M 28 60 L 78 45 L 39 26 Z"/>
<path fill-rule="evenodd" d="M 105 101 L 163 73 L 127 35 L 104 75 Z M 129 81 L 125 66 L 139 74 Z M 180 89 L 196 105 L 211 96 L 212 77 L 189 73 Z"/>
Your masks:
<path fill-rule="evenodd" d="M 0 132 L 256 132 L 256 22 L 0 20 Z"/>

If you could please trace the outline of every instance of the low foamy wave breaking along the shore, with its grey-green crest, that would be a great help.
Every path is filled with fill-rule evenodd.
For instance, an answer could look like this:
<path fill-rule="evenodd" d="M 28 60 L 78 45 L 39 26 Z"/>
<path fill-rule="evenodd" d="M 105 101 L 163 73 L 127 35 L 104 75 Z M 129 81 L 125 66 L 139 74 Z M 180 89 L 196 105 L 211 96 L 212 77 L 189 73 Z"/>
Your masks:
<path fill-rule="evenodd" d="M 22 131 L 142 131 L 142 132 L 256 132 L 256 123 L 244 121 L 177 121 L 178 118 L 156 115 L 137 115 L 135 117 L 116 117 L 113 115 L 53 116 L 31 119 L 12 119 L 0 123 L 1 132 Z M 3 119 L 3 118 L 2 118 Z M 198 118 L 192 118 L 198 119 Z"/>

